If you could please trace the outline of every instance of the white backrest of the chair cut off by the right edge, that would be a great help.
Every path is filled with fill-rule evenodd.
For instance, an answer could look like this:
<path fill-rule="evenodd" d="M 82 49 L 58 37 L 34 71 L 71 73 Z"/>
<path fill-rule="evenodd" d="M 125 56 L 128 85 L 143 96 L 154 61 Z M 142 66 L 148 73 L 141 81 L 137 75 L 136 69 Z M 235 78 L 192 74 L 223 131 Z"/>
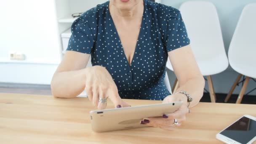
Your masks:
<path fill-rule="evenodd" d="M 248 4 L 242 11 L 229 45 L 229 63 L 256 67 L 256 3 Z"/>

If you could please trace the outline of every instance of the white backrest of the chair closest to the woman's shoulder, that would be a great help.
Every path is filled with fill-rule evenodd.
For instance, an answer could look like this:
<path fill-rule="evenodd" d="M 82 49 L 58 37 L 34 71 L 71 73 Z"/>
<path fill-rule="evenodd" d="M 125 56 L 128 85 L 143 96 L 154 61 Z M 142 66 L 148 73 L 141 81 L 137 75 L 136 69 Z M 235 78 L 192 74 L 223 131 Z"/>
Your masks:
<path fill-rule="evenodd" d="M 207 1 L 185 2 L 179 8 L 197 61 L 226 55 L 219 16 Z"/>

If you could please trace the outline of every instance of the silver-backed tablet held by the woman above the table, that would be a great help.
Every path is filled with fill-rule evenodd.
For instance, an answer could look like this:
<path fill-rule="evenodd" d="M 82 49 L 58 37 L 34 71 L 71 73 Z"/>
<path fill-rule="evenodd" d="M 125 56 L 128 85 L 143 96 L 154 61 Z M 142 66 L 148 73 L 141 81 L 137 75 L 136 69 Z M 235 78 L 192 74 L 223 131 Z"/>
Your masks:
<path fill-rule="evenodd" d="M 165 104 L 93 110 L 90 112 L 92 130 L 104 132 L 147 127 L 147 125 L 140 124 L 143 118 L 162 117 L 163 114 L 178 110 L 182 103 L 182 101 L 177 101 Z"/>

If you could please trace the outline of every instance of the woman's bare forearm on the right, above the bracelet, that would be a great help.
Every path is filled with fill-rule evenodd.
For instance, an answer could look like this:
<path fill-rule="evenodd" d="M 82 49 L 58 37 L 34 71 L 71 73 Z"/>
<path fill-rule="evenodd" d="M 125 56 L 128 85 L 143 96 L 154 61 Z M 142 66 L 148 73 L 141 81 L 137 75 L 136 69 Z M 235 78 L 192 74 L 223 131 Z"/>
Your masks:
<path fill-rule="evenodd" d="M 194 107 L 200 101 L 203 96 L 203 91 L 205 87 L 205 80 L 203 77 L 195 77 L 188 80 L 184 85 L 181 85 L 176 92 L 187 91 L 190 96 L 193 98 L 193 101 L 190 102 L 189 107 Z M 187 103 L 187 97 L 182 93 L 173 93 L 174 95 L 179 96 L 184 102 Z"/>

